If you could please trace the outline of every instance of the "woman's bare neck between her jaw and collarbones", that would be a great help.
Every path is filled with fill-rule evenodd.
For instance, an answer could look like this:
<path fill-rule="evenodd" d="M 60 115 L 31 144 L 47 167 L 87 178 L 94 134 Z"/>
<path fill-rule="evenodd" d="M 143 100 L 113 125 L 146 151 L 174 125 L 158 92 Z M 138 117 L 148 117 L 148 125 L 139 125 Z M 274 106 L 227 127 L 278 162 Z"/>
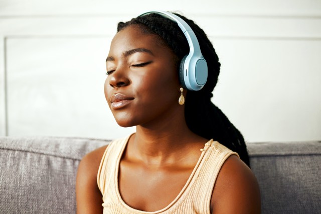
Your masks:
<path fill-rule="evenodd" d="M 206 142 L 202 140 L 202 143 Z M 200 137 L 188 129 L 184 117 L 172 117 L 152 125 L 136 126 L 136 134 L 127 151 L 131 150 L 135 159 L 149 166 L 164 166 L 186 158 L 192 144 L 199 142 Z"/>

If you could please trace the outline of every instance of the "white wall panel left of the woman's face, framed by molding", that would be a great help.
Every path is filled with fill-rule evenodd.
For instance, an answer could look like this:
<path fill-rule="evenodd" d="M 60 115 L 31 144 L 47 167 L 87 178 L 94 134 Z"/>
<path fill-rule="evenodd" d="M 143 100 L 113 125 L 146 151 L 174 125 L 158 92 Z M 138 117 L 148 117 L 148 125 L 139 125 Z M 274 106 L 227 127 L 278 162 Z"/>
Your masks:
<path fill-rule="evenodd" d="M 8 39 L 9 135 L 117 137 L 103 94 L 110 39 Z"/>

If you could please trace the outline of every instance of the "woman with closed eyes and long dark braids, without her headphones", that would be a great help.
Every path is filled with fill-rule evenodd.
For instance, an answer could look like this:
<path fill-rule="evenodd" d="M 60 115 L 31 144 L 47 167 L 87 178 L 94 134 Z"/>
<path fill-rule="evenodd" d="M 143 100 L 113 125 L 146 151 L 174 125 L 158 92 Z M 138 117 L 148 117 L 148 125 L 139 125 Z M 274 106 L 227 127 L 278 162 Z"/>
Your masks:
<path fill-rule="evenodd" d="M 78 213 L 260 212 L 244 139 L 211 102 L 218 56 L 202 29 L 177 16 L 196 34 L 206 84 L 193 91 L 180 81 L 190 47 L 176 22 L 151 13 L 118 24 L 104 90 L 117 123 L 136 133 L 80 162 Z"/>

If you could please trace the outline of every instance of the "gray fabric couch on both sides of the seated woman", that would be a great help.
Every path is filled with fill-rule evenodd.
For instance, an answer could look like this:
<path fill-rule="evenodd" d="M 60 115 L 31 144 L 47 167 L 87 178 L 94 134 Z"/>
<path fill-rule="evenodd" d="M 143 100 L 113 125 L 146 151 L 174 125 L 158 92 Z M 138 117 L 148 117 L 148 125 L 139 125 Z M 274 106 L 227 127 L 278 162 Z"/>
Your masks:
<path fill-rule="evenodd" d="M 81 158 L 108 140 L 0 137 L 0 213 L 75 213 Z M 248 144 L 262 213 L 321 213 L 320 142 Z"/>

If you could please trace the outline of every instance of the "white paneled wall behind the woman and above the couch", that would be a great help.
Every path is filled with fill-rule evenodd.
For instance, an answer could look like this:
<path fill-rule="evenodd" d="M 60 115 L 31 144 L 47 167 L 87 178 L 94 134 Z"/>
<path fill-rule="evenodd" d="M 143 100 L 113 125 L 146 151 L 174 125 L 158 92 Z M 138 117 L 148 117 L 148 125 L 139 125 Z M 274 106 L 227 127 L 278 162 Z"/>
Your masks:
<path fill-rule="evenodd" d="M 113 139 L 104 94 L 116 24 L 181 11 L 216 48 L 213 101 L 254 141 L 321 139 L 321 1 L 0 0 L 0 135 Z"/>

